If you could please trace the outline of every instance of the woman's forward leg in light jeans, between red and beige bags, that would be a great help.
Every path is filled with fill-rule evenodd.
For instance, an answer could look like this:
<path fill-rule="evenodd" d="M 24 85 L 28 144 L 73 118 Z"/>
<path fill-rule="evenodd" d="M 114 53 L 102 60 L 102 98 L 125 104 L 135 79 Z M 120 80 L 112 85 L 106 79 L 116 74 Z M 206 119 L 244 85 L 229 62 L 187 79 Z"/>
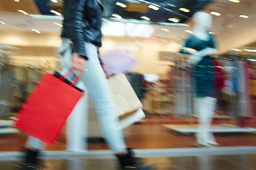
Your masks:
<path fill-rule="evenodd" d="M 98 51 L 95 45 L 86 43 L 89 59 L 87 61 L 87 72 L 81 81 L 88 90 L 95 107 L 101 131 L 111 150 L 116 153 L 126 150 L 122 130 L 116 116 L 116 105 L 109 88 L 108 81 L 99 62 Z"/>

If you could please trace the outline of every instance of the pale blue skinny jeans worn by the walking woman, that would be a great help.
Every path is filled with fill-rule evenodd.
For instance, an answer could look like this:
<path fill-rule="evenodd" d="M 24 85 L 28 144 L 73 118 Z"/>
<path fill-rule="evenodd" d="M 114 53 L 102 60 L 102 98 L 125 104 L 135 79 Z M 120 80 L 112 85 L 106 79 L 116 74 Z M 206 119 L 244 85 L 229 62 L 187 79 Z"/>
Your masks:
<path fill-rule="evenodd" d="M 63 67 L 63 70 L 61 71 L 62 74 L 66 73 L 71 67 L 73 44 L 70 42 L 71 41 L 69 39 L 62 39 L 60 50 L 61 65 Z M 122 130 L 119 128 L 119 119 L 116 116 L 116 105 L 108 86 L 108 81 L 99 62 L 98 49 L 95 45 L 88 42 L 85 42 L 85 46 L 89 54 L 89 59 L 87 61 L 88 71 L 84 72 L 84 76 L 81 78 L 81 81 L 77 86 L 79 88 L 84 88 L 84 86 L 86 87 L 87 94 L 89 94 L 89 97 L 95 107 L 102 134 L 111 150 L 114 152 L 126 150 L 127 147 L 125 145 Z M 77 74 L 78 72 L 75 71 L 75 73 Z M 73 79 L 73 77 L 75 77 L 75 74 L 69 78 Z M 86 111 L 84 111 L 86 108 L 82 107 L 83 103 L 81 103 L 81 101 L 83 100 L 80 100 L 80 102 L 77 103 L 79 106 L 75 107 L 70 117 L 78 111 L 86 113 Z M 86 124 L 86 122 L 84 122 L 84 124 Z M 29 136 L 26 145 L 38 150 L 45 149 L 45 144 L 32 136 Z"/>

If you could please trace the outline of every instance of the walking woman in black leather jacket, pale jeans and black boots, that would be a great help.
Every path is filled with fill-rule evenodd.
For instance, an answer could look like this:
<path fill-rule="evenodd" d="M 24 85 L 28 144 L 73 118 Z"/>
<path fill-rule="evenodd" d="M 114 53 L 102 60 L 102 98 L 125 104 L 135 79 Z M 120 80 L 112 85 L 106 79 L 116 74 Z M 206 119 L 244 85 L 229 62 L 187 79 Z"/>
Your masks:
<path fill-rule="evenodd" d="M 71 67 L 84 71 L 81 82 L 95 106 L 102 133 L 111 150 L 115 153 L 121 168 L 151 170 L 142 166 L 131 149 L 125 145 L 124 136 L 119 128 L 119 120 L 114 116 L 116 106 L 108 86 L 105 68 L 98 56 L 101 47 L 101 17 L 103 6 L 99 0 L 64 0 L 64 22 L 62 30 L 61 63 L 62 73 Z M 54 121 L 54 120 L 53 120 Z M 29 136 L 26 146 L 26 159 L 23 170 L 40 169 L 38 151 L 45 149 L 39 139 Z"/>

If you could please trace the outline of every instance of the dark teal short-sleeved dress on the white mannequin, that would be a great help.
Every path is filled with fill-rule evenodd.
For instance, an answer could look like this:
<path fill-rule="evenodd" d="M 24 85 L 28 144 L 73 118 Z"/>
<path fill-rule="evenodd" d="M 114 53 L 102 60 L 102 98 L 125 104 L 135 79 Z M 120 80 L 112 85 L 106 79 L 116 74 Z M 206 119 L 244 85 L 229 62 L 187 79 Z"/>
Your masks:
<path fill-rule="evenodd" d="M 208 33 L 209 34 L 209 33 Z M 186 48 L 192 48 L 196 51 L 201 51 L 204 48 L 215 48 L 215 40 L 212 34 L 209 34 L 208 40 L 201 40 L 193 34 L 183 45 Z M 186 50 L 181 49 L 180 53 L 188 54 Z M 212 57 L 205 56 L 192 68 L 195 78 L 195 88 L 197 97 L 216 97 L 215 82 L 214 82 L 214 65 Z"/>

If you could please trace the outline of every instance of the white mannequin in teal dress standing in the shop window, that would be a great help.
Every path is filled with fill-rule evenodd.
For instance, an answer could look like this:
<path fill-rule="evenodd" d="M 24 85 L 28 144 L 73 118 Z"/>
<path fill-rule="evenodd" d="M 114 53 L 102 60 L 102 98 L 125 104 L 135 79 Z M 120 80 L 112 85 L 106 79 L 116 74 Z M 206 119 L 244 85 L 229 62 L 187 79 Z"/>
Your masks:
<path fill-rule="evenodd" d="M 199 128 L 196 134 L 195 147 L 218 145 L 210 132 L 212 117 L 217 101 L 214 87 L 214 67 L 209 55 L 217 52 L 215 40 L 208 29 L 212 26 L 212 16 L 204 12 L 196 12 L 193 16 L 195 26 L 193 34 L 181 49 L 181 53 L 190 54 L 189 62 L 193 65 L 196 84 L 195 110 L 198 111 Z M 192 49 L 192 50 L 190 50 Z"/>

